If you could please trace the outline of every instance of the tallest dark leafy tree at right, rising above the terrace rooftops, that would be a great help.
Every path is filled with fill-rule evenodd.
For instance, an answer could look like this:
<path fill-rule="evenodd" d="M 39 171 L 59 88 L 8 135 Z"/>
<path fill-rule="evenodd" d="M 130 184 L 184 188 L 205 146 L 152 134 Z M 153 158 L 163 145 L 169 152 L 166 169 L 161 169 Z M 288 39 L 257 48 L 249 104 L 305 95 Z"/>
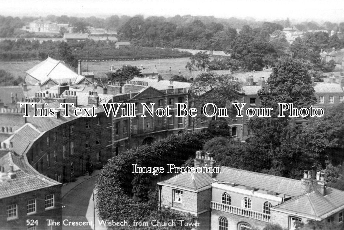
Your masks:
<path fill-rule="evenodd" d="M 303 60 L 284 57 L 276 63 L 268 79 L 268 86 L 258 91 L 262 107 L 272 107 L 271 117 L 252 119 L 249 127 L 256 134 L 250 141 L 266 149 L 272 171 L 298 178 L 317 155 L 300 138 L 302 128 L 294 126 L 289 114 L 277 117 L 277 103 L 293 103 L 294 107 L 309 107 L 316 97 L 311 85 L 309 67 Z M 279 170 L 281 169 L 281 170 Z"/>

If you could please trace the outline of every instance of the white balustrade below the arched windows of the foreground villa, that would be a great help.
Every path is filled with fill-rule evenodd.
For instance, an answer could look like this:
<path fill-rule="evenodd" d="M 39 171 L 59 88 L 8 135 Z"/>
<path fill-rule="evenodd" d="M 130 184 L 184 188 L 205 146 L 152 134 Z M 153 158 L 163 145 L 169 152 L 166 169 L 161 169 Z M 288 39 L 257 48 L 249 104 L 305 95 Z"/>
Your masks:
<path fill-rule="evenodd" d="M 257 211 L 252 211 L 245 208 L 226 205 L 224 203 L 218 203 L 215 201 L 211 202 L 211 208 L 219 210 L 219 211 L 233 213 L 239 216 L 249 217 L 252 219 L 261 220 L 265 222 L 270 222 L 270 215 L 262 213 L 262 212 L 257 212 Z"/>

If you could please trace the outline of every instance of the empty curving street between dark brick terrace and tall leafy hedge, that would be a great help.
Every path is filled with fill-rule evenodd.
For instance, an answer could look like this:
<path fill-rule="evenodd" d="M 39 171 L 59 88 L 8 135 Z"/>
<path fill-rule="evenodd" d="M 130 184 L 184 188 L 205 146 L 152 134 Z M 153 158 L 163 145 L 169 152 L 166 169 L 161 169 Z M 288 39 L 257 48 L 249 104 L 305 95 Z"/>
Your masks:
<path fill-rule="evenodd" d="M 93 219 L 93 191 L 97 182 L 99 170 L 93 176 L 82 176 L 76 181 L 70 182 L 62 187 L 62 225 L 63 230 L 94 230 L 94 226 L 73 226 L 69 222 L 86 222 Z M 96 201 L 95 201 L 96 202 Z M 96 230 L 106 230 L 105 226 L 99 226 L 97 212 L 95 213 Z"/>

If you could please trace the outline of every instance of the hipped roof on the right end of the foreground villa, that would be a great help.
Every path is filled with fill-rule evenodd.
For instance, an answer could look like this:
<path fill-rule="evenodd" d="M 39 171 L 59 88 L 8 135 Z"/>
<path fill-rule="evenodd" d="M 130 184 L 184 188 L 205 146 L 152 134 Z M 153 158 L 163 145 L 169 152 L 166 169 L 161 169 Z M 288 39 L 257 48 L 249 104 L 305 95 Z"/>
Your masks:
<path fill-rule="evenodd" d="M 344 191 L 326 188 L 326 195 L 318 190 L 301 195 L 274 207 L 276 210 L 288 210 L 295 214 L 305 214 L 326 218 L 332 210 L 344 206 Z"/>

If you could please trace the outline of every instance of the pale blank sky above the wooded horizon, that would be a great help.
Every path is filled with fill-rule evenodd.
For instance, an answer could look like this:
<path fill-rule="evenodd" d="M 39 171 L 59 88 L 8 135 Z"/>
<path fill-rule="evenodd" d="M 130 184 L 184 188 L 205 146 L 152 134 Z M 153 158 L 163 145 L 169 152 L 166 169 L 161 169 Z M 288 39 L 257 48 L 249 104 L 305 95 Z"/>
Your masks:
<path fill-rule="evenodd" d="M 257 21 L 289 17 L 296 21 L 344 22 L 344 0 L 0 0 L 0 6 L 1 15 L 19 17 L 191 14 L 252 17 Z"/>

